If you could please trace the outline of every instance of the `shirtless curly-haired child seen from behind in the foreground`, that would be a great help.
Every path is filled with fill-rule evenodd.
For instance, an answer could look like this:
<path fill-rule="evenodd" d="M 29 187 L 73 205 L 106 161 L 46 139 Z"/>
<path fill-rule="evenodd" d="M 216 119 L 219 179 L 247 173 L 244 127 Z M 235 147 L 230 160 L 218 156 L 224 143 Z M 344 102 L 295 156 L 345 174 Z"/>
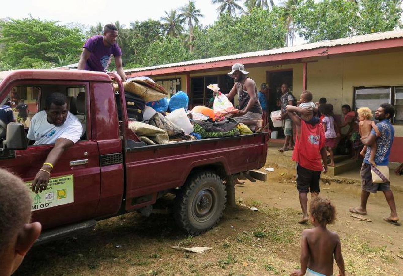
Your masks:
<path fill-rule="evenodd" d="M 328 199 L 314 197 L 310 203 L 310 220 L 315 228 L 302 231 L 301 269 L 292 276 L 333 275 L 333 260 L 339 266 L 339 275 L 344 276 L 344 260 L 339 235 L 326 225 L 336 218 L 336 209 Z"/>

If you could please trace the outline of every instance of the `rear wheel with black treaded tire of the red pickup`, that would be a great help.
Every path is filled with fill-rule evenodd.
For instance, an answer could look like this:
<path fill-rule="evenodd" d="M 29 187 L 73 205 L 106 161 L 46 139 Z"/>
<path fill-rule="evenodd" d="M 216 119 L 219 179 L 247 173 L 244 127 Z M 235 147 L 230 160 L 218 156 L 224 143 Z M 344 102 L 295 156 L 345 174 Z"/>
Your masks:
<path fill-rule="evenodd" d="M 177 194 L 175 220 L 191 235 L 199 235 L 220 221 L 225 209 L 226 191 L 214 171 L 192 174 Z"/>

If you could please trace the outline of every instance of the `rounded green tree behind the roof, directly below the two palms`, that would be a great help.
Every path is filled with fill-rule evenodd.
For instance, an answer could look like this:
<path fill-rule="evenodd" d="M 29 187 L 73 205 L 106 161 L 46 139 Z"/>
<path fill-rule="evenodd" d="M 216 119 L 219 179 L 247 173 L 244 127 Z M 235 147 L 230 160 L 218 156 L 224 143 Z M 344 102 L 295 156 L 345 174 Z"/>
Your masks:
<path fill-rule="evenodd" d="M 150 44 L 142 64 L 144 66 L 153 66 L 188 61 L 191 59 L 193 59 L 193 55 L 183 46 L 179 39 L 166 36 Z"/>

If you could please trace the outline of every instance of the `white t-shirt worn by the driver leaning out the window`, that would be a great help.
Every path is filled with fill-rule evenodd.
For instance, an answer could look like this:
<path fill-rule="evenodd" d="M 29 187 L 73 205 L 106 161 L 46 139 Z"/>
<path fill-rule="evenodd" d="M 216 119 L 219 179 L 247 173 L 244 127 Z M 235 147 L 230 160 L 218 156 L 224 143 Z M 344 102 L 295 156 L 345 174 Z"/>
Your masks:
<path fill-rule="evenodd" d="M 34 145 L 54 144 L 58 138 L 66 138 L 76 143 L 83 134 L 83 126 L 70 112 L 60 126 L 51 124 L 46 119 L 46 111 L 39 111 L 31 119 L 27 138 L 35 140 Z"/>

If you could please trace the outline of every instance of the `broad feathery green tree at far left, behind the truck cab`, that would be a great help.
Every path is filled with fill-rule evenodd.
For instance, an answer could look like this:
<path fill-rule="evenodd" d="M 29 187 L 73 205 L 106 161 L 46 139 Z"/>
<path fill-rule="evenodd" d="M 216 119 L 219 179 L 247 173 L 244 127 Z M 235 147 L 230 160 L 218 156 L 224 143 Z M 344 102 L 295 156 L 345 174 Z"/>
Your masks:
<path fill-rule="evenodd" d="M 6 67 L 56 67 L 66 56 L 75 56 L 78 61 L 83 46 L 80 29 L 69 29 L 55 21 L 10 19 L 1 22 L 0 28 L 2 64 Z"/>

